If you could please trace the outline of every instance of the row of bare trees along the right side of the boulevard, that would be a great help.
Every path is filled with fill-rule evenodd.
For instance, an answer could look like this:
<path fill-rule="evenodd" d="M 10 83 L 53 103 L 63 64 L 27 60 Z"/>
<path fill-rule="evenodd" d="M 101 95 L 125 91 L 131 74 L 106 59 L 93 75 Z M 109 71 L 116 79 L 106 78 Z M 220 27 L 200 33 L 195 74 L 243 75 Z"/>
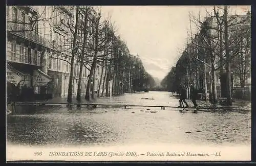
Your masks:
<path fill-rule="evenodd" d="M 228 6 L 212 10 L 214 15 L 207 16 L 204 21 L 200 20 L 200 16 L 190 15 L 190 26 L 193 22 L 198 33 L 193 35 L 190 31 L 186 49 L 162 84 L 172 80 L 171 91 L 185 84 L 188 97 L 189 85 L 194 84 L 204 93 L 205 100 L 209 92 L 211 103 L 226 98 L 226 104 L 232 105 L 233 77 L 239 76 L 243 96 L 245 81 L 251 75 L 250 13 L 231 15 L 228 14 Z M 217 77 L 220 78 L 220 94 L 217 94 Z"/>

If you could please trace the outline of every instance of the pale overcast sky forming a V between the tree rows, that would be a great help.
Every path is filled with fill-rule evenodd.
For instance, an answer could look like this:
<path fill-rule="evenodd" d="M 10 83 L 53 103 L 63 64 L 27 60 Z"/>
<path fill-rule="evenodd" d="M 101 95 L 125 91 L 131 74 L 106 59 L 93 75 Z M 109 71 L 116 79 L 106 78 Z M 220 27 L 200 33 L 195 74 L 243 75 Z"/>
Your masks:
<path fill-rule="evenodd" d="M 146 71 L 163 79 L 181 55 L 187 41 L 189 12 L 201 20 L 211 6 L 102 6 L 111 15 L 117 34 L 126 41 L 131 54 L 139 55 Z M 233 6 L 230 13 L 246 14 L 250 6 Z M 194 24 L 192 23 L 192 26 Z M 196 31 L 196 28 L 193 28 Z"/>

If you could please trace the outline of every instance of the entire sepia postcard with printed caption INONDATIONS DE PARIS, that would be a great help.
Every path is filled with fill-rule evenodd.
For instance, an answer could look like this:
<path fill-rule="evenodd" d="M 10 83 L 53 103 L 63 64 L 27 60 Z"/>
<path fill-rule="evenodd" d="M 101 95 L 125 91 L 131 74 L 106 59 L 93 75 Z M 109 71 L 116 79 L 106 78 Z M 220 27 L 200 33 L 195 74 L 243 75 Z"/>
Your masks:
<path fill-rule="evenodd" d="M 250 6 L 7 6 L 7 161 L 250 161 Z"/>

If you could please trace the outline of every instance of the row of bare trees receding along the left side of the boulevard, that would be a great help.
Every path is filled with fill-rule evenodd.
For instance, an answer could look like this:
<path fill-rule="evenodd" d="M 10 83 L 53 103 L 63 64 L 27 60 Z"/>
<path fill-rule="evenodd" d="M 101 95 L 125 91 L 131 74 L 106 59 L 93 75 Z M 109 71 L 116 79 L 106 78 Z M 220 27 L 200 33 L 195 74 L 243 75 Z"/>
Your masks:
<path fill-rule="evenodd" d="M 79 81 L 77 89 L 77 100 L 81 100 L 81 75 L 82 68 L 86 67 L 90 73 L 86 86 L 85 99 L 95 98 L 95 73 L 96 66 L 101 66 L 101 75 L 97 87 L 97 97 L 110 96 L 111 94 L 123 94 L 133 90 L 142 90 L 152 78 L 145 72 L 143 64 L 138 56 L 130 54 L 124 41 L 115 32 L 114 25 L 110 19 L 103 19 L 101 11 L 97 12 L 89 6 L 76 7 L 76 21 L 74 27 L 67 25 L 74 36 L 72 45 L 71 73 L 68 91 L 68 102 L 72 102 L 72 77 L 73 77 L 73 58 L 75 53 L 80 62 Z M 82 15 L 80 24 L 77 17 Z M 88 22 L 91 23 L 88 23 Z M 83 23 L 81 23 L 83 22 Z M 88 27 L 89 25 L 89 27 Z M 82 39 L 76 42 L 77 32 L 80 30 Z M 91 36 L 92 40 L 88 37 Z M 112 80 L 112 85 L 109 84 Z M 93 82 L 91 84 L 91 82 Z M 139 87 L 136 87 L 139 84 Z M 112 87 L 109 87 L 112 86 Z M 133 87 L 133 88 L 132 88 Z M 105 89 L 105 93 L 104 93 Z M 111 89 L 111 92 L 109 91 Z"/>

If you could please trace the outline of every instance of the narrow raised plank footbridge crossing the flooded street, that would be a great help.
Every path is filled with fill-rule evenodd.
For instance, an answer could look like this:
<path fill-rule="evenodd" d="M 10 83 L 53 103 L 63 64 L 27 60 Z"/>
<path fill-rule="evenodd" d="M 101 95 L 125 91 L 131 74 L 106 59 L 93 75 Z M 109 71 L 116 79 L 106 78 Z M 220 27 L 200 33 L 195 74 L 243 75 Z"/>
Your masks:
<path fill-rule="evenodd" d="M 183 109 L 182 107 L 177 106 L 160 106 L 160 105 L 133 105 L 133 104 L 100 104 L 100 103 L 52 103 L 52 102 L 17 102 L 16 105 L 35 105 L 35 106 L 47 106 L 47 105 L 86 105 L 86 106 L 113 106 L 113 107 L 122 107 L 126 109 L 127 107 L 158 107 L 161 109 L 165 108 L 178 108 Z M 234 108 L 234 107 L 227 107 L 227 106 L 221 106 L 221 107 L 198 107 L 200 109 L 214 109 L 214 110 L 233 110 L 233 111 L 251 111 L 251 109 L 243 109 L 243 108 Z M 185 108 L 185 109 L 195 109 L 195 108 Z"/>

